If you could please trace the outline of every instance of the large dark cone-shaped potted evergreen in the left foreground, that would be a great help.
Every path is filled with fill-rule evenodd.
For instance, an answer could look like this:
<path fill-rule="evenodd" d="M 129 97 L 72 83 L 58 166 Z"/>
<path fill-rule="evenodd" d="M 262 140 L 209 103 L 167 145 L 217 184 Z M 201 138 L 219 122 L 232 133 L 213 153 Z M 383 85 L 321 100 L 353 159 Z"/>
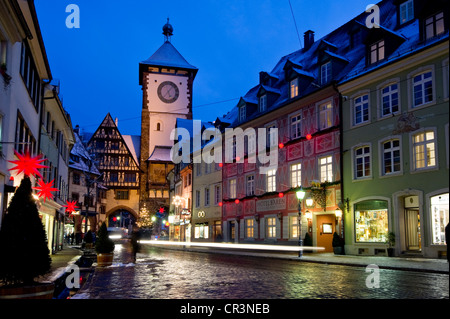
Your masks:
<path fill-rule="evenodd" d="M 28 176 L 22 179 L 3 219 L 0 256 L 0 299 L 11 295 L 15 299 L 53 298 L 53 283 L 35 281 L 49 272 L 52 260 Z"/>

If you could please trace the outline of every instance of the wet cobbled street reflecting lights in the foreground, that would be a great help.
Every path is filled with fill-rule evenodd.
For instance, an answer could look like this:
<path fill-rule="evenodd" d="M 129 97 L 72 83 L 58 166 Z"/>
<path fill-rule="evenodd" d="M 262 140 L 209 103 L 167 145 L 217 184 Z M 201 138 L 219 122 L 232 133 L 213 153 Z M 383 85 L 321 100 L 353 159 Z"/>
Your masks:
<path fill-rule="evenodd" d="M 116 245 L 74 299 L 448 299 L 448 274 Z M 372 286 L 373 288 L 368 287 Z"/>

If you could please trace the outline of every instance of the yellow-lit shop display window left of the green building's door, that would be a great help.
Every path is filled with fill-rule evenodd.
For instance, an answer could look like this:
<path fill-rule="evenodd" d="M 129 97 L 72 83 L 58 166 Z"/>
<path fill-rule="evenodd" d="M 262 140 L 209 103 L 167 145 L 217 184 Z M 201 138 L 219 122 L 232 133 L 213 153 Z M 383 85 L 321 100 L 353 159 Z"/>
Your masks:
<path fill-rule="evenodd" d="M 385 243 L 389 229 L 387 201 L 364 201 L 354 208 L 356 242 Z"/>

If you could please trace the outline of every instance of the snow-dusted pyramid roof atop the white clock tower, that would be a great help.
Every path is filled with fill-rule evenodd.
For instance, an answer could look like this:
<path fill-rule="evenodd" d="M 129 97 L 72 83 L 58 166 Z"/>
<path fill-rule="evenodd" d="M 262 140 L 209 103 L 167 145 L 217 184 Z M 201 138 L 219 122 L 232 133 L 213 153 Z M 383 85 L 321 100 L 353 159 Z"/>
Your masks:
<path fill-rule="evenodd" d="M 150 58 L 141 62 L 141 64 L 167 66 L 194 71 L 198 70 L 195 66 L 189 64 L 169 41 L 164 42 L 164 44 L 155 53 L 153 53 Z"/>

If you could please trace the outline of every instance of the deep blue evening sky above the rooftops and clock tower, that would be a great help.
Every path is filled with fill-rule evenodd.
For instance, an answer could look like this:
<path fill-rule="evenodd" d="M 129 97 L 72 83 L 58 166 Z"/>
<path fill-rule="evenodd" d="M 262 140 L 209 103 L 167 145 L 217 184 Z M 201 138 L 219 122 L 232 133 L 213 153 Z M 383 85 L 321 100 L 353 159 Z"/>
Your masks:
<path fill-rule="evenodd" d="M 376 1 L 378 2 L 378 1 Z M 376 3 L 375 2 L 375 3 Z M 373 2 L 291 0 L 298 32 L 320 39 Z M 122 134 L 140 135 L 139 62 L 164 42 L 170 18 L 172 44 L 199 68 L 194 119 L 214 121 L 301 48 L 288 0 L 35 0 L 46 51 L 72 124 L 94 132 L 108 112 Z M 80 8 L 80 28 L 66 27 L 69 4 Z M 228 102 L 224 102 L 228 101 Z"/>

